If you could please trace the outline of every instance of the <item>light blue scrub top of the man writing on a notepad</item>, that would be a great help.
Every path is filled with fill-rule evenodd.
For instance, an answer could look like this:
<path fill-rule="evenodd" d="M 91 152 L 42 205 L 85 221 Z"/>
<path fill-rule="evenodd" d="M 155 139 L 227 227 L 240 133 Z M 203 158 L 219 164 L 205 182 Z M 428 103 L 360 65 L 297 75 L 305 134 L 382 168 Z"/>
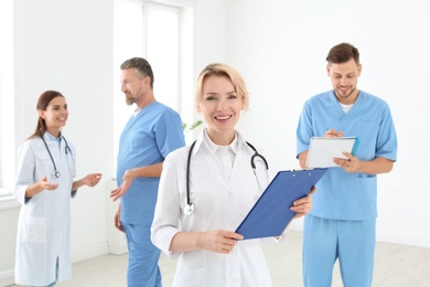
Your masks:
<path fill-rule="evenodd" d="M 397 160 L 397 136 L 387 103 L 361 91 L 345 114 L 333 91 L 308 99 L 297 129 L 297 155 L 309 150 L 311 137 L 322 137 L 329 128 L 356 136 L 355 156 L 363 161 L 377 157 Z M 376 176 L 348 173 L 330 168 L 316 184 L 310 214 L 331 220 L 372 220 L 377 216 Z"/>

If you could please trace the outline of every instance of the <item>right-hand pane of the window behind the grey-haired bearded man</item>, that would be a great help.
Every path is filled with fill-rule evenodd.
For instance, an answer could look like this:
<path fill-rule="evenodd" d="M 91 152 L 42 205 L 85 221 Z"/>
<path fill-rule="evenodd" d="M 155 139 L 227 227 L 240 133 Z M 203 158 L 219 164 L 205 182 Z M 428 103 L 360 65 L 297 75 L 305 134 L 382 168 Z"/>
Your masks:
<path fill-rule="evenodd" d="M 143 4 L 143 56 L 154 72 L 157 100 L 193 119 L 192 9 Z"/>

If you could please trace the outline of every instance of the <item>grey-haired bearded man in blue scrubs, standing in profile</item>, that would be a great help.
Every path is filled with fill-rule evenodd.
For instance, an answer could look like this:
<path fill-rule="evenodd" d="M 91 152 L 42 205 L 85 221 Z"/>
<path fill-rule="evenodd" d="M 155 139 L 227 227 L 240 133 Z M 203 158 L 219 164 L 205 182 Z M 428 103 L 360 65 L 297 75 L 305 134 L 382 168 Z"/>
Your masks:
<path fill-rule="evenodd" d="M 117 184 L 110 196 L 121 199 L 115 226 L 125 232 L 129 251 L 128 286 L 161 286 L 160 249 L 152 245 L 152 224 L 164 158 L 183 147 L 182 121 L 176 111 L 158 103 L 153 73 L 147 60 L 133 57 L 121 65 L 121 91 L 137 109 L 122 130 L 117 159 Z"/>

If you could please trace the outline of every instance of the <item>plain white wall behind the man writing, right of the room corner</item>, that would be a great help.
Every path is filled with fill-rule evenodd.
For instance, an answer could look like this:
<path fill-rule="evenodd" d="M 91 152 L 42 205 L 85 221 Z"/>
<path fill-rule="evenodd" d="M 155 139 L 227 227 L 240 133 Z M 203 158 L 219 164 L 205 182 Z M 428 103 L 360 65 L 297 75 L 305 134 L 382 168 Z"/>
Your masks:
<path fill-rule="evenodd" d="M 426 179 L 430 115 L 430 3 L 427 1 L 230 1 L 228 61 L 245 76 L 251 110 L 241 121 L 272 169 L 298 168 L 295 127 L 307 98 L 331 88 L 325 56 L 340 42 L 359 49 L 358 88 L 388 102 L 399 150 L 378 177 L 377 238 L 430 247 Z M 301 225 L 295 224 L 300 228 Z"/>

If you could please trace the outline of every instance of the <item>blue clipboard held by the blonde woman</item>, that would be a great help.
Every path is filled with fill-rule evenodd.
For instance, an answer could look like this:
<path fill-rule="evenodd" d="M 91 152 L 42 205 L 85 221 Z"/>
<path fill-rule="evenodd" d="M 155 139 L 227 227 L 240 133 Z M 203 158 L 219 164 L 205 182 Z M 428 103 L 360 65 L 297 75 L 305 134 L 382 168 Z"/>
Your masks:
<path fill-rule="evenodd" d="M 308 195 L 326 170 L 279 171 L 235 232 L 244 240 L 281 235 L 295 215 L 292 203 Z"/>

